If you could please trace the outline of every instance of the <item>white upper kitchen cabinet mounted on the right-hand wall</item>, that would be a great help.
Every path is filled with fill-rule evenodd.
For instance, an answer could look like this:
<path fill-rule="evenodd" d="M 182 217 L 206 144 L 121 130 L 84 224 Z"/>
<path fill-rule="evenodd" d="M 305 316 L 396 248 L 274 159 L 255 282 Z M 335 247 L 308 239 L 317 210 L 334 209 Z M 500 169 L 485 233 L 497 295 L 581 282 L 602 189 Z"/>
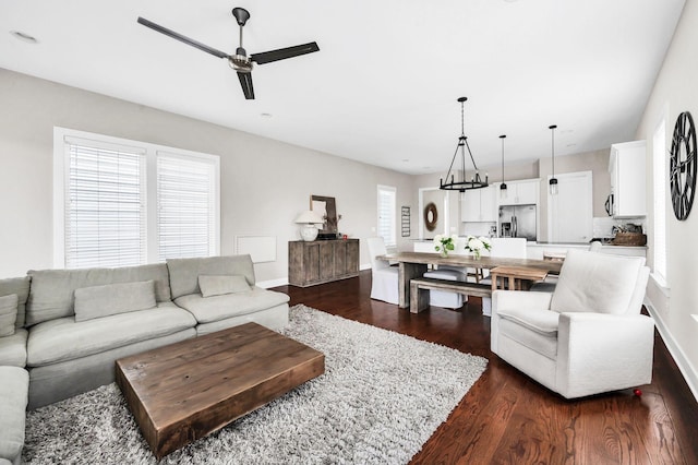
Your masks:
<path fill-rule="evenodd" d="M 615 217 L 647 215 L 645 141 L 611 145 L 612 212 Z"/>

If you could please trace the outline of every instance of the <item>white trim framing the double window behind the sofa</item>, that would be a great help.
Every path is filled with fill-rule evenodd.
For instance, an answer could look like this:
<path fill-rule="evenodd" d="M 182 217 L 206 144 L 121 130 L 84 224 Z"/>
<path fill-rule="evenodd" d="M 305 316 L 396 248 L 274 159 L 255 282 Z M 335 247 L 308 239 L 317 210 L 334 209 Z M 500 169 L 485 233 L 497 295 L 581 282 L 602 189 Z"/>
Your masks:
<path fill-rule="evenodd" d="M 153 144 L 148 142 L 134 141 L 123 138 L 116 138 L 94 132 L 79 131 L 68 128 L 53 127 L 53 267 L 65 267 L 65 140 L 84 139 L 95 141 L 97 144 L 106 143 L 110 145 L 122 145 L 137 147 L 145 151 L 146 157 L 146 262 L 158 263 L 157 247 L 157 156 L 159 153 L 166 155 L 182 156 L 185 158 L 204 159 L 214 165 L 215 180 L 215 212 L 214 212 L 214 243 L 213 254 L 220 253 L 220 157 L 218 155 L 193 152 L 167 145 Z"/>

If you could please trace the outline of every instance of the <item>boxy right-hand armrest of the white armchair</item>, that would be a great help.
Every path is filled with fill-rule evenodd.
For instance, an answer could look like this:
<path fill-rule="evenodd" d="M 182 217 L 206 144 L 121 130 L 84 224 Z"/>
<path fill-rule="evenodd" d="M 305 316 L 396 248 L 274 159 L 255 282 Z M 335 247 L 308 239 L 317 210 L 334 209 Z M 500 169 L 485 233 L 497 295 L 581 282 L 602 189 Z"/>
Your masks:
<path fill-rule="evenodd" d="M 654 321 L 649 317 L 561 313 L 557 392 L 571 398 L 647 384 L 653 347 Z"/>

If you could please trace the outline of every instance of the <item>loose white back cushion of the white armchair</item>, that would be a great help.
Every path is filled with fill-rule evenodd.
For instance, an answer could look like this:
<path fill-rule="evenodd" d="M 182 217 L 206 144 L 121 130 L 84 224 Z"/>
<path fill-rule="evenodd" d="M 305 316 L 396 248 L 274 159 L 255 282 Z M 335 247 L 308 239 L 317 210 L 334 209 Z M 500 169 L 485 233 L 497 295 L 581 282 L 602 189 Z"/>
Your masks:
<path fill-rule="evenodd" d="M 570 250 L 559 272 L 551 310 L 624 314 L 643 265 L 642 257 Z"/>

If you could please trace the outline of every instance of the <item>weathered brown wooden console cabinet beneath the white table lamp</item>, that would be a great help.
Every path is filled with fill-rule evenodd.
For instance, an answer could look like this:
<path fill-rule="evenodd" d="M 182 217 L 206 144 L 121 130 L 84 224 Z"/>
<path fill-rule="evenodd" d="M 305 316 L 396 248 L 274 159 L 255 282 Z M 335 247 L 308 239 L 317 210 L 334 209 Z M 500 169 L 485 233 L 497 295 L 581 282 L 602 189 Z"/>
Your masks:
<path fill-rule="evenodd" d="M 308 287 L 359 275 L 359 239 L 288 243 L 288 283 Z"/>

